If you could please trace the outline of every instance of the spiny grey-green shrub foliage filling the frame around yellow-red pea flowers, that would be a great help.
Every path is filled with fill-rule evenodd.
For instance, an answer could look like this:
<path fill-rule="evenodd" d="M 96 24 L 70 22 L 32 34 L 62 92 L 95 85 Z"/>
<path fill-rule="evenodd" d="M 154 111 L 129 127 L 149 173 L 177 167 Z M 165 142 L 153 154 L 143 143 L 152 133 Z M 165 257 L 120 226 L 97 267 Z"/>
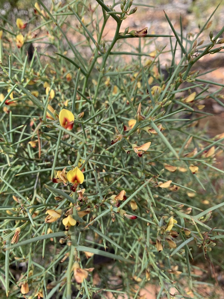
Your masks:
<path fill-rule="evenodd" d="M 136 11 L 131 0 L 116 12 L 101 0 L 91 7 L 38 2 L 27 26 L 20 23 L 25 28 L 7 22 L 0 39 L 6 294 L 23 298 L 29 286 L 29 298 L 140 298 L 150 277 L 158 299 L 171 298 L 173 286 L 177 298 L 201 298 L 191 261 L 200 255 L 212 263 L 214 246 L 222 250 L 224 172 L 215 163 L 224 137 L 195 126 L 216 83 L 191 68 L 222 49 L 224 28 L 209 34 L 213 13 L 194 39 L 184 38 L 165 15 L 171 36 L 121 33 L 122 20 Z M 111 18 L 116 31 L 107 41 Z M 197 46 L 206 30 L 210 42 Z M 170 42 L 167 70 L 165 48 L 148 54 L 158 37 Z M 130 39 L 138 46 L 118 51 L 117 42 L 125 48 Z M 131 62 L 121 62 L 125 55 Z M 210 96 L 223 105 L 219 93 Z"/>

